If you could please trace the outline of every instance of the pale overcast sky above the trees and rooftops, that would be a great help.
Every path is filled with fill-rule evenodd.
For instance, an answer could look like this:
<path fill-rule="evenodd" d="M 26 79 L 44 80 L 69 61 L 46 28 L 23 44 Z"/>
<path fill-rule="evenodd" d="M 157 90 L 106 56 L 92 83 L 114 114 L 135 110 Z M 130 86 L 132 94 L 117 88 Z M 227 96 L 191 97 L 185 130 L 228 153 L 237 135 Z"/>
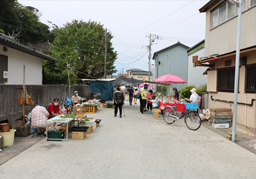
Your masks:
<path fill-rule="evenodd" d="M 198 10 L 209 0 L 18 1 L 42 12 L 40 21 L 47 25 L 49 20 L 61 27 L 74 19 L 103 24 L 114 36 L 113 47 L 118 53 L 116 74 L 119 74 L 130 68 L 148 71 L 149 38 L 146 36 L 150 33 L 162 37 L 152 45 L 151 54 L 177 41 L 192 47 L 204 40 L 205 13 Z"/>

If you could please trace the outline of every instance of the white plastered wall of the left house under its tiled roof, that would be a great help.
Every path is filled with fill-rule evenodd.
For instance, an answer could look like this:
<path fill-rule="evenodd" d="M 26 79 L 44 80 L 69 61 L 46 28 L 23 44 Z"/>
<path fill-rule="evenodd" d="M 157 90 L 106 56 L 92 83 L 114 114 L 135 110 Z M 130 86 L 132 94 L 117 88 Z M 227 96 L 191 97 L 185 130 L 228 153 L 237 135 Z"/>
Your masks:
<path fill-rule="evenodd" d="M 23 84 L 23 74 L 25 65 L 25 84 L 42 84 L 43 59 L 17 51 L 7 47 L 8 51 L 3 51 L 0 45 L 0 54 L 8 56 L 8 81 L 10 84 Z"/>

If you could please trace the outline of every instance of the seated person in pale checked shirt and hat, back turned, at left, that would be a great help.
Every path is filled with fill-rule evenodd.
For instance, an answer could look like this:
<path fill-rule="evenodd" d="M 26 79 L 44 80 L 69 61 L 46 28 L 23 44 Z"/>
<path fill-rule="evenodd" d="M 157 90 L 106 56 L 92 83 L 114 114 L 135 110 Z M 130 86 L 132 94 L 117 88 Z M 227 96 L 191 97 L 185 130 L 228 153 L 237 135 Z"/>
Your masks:
<path fill-rule="evenodd" d="M 49 117 L 48 111 L 44 107 L 44 103 L 38 101 L 36 107 L 31 111 L 31 126 L 46 128 L 46 123 Z M 53 127 L 54 123 L 48 123 L 48 127 Z"/>

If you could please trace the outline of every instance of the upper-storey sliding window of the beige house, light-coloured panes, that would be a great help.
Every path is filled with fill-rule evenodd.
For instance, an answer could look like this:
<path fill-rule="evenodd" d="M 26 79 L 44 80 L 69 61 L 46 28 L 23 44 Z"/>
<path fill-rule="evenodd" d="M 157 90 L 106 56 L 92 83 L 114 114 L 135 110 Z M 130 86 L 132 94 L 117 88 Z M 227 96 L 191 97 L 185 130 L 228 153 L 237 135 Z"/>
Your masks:
<path fill-rule="evenodd" d="M 256 2 L 256 0 L 251 0 Z M 252 4 L 251 3 L 251 4 Z M 243 8 L 244 11 L 246 8 L 246 0 L 243 0 Z M 238 8 L 236 4 L 229 3 L 228 1 L 224 4 L 221 4 L 218 8 L 211 12 L 211 28 L 216 27 L 220 24 L 223 24 L 227 20 L 231 19 L 238 13 Z"/>

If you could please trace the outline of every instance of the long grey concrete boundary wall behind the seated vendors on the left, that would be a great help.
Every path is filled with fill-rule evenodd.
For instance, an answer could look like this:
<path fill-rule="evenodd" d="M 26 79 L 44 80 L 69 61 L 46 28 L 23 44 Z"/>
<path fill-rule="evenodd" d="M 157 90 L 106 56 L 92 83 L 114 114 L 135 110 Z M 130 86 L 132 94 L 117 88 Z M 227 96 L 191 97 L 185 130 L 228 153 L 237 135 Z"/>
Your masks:
<path fill-rule="evenodd" d="M 59 98 L 62 105 L 65 92 L 68 94 L 68 86 L 64 85 L 26 85 L 26 87 L 33 102 L 35 104 L 38 100 L 44 102 L 46 109 L 54 98 Z M 22 118 L 22 106 L 17 106 L 17 98 L 21 96 L 22 89 L 17 88 L 22 88 L 22 85 L 0 84 L 0 121 L 8 120 L 12 128 L 22 125 L 21 120 L 17 121 L 17 119 Z M 70 86 L 70 97 L 74 95 L 74 91 L 79 91 L 79 97 L 84 97 L 87 100 L 91 98 L 90 86 Z M 35 104 L 27 105 L 25 114 L 31 112 Z"/>

